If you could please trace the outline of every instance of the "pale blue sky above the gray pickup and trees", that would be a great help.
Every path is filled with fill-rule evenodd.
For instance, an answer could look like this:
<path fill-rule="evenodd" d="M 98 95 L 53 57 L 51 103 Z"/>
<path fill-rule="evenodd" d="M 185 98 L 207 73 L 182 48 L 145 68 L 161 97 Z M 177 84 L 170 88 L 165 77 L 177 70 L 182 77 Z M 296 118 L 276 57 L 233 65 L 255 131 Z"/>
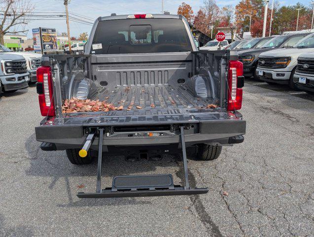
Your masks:
<path fill-rule="evenodd" d="M 64 14 L 65 6 L 63 0 L 31 0 L 35 6 L 34 14 L 60 15 Z M 164 0 L 165 10 L 171 13 L 176 13 L 178 6 L 182 1 L 191 5 L 193 11 L 196 13 L 203 0 Z M 216 0 L 218 6 L 222 7 L 227 4 L 236 5 L 240 0 Z M 272 0 L 271 0 L 272 1 Z M 110 13 L 119 14 L 134 14 L 134 13 L 161 13 L 162 0 L 71 0 L 69 4 L 69 12 L 79 14 L 85 17 L 83 20 L 94 22 L 99 16 L 107 16 Z M 309 5 L 310 0 L 279 0 L 280 4 L 289 5 L 301 2 Z M 51 13 L 53 12 L 53 13 Z M 78 16 L 73 17 L 78 18 Z M 28 38 L 32 38 L 32 29 L 37 27 L 56 28 L 57 32 L 67 32 L 67 25 L 65 19 L 59 17 L 42 20 L 41 17 L 35 18 L 31 21 L 26 29 L 29 30 Z M 77 37 L 82 32 L 89 33 L 91 25 L 77 23 L 70 21 L 70 35 Z"/>

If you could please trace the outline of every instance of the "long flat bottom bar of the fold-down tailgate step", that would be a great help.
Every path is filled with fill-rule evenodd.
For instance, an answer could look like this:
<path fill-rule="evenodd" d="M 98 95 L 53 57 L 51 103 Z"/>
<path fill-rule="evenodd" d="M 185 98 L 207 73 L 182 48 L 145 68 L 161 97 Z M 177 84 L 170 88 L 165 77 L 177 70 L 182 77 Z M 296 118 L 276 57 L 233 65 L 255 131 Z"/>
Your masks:
<path fill-rule="evenodd" d="M 197 195 L 207 194 L 208 189 L 184 189 L 180 186 L 174 186 L 173 190 L 140 190 L 140 191 L 117 191 L 104 189 L 101 193 L 78 193 L 79 198 L 112 198 L 112 197 L 157 197 L 157 196 L 179 196 L 179 195 Z"/>

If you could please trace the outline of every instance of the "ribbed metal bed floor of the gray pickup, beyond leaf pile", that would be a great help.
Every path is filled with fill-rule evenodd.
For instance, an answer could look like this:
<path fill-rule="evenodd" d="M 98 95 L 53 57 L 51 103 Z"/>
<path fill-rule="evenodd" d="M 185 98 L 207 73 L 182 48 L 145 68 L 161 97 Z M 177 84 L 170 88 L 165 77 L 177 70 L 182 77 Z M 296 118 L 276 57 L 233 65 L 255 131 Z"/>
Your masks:
<path fill-rule="evenodd" d="M 173 85 L 120 86 L 97 90 L 95 95 L 92 98 L 106 101 L 115 107 L 123 106 L 123 110 L 162 110 L 163 114 L 172 114 L 173 110 L 206 108 L 213 103 L 212 99 L 193 97 L 184 86 Z"/>

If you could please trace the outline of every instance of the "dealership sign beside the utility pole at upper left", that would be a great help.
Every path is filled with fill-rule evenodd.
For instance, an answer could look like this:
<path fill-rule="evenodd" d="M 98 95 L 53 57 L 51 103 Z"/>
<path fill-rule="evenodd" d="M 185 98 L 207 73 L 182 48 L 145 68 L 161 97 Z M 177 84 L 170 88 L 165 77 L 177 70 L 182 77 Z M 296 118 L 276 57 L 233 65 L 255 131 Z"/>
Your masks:
<path fill-rule="evenodd" d="M 33 29 L 34 50 L 51 52 L 58 50 L 57 32 L 54 28 L 35 28 Z"/>

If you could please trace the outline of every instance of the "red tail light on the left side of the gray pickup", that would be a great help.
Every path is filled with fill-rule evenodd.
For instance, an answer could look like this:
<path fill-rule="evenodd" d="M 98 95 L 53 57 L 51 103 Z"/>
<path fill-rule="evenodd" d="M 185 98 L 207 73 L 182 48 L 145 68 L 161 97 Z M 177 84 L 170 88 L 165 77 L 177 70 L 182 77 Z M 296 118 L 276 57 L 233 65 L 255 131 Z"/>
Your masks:
<path fill-rule="evenodd" d="M 53 87 L 50 67 L 37 69 L 37 93 L 41 115 L 53 117 L 56 115 L 53 101 Z"/>

